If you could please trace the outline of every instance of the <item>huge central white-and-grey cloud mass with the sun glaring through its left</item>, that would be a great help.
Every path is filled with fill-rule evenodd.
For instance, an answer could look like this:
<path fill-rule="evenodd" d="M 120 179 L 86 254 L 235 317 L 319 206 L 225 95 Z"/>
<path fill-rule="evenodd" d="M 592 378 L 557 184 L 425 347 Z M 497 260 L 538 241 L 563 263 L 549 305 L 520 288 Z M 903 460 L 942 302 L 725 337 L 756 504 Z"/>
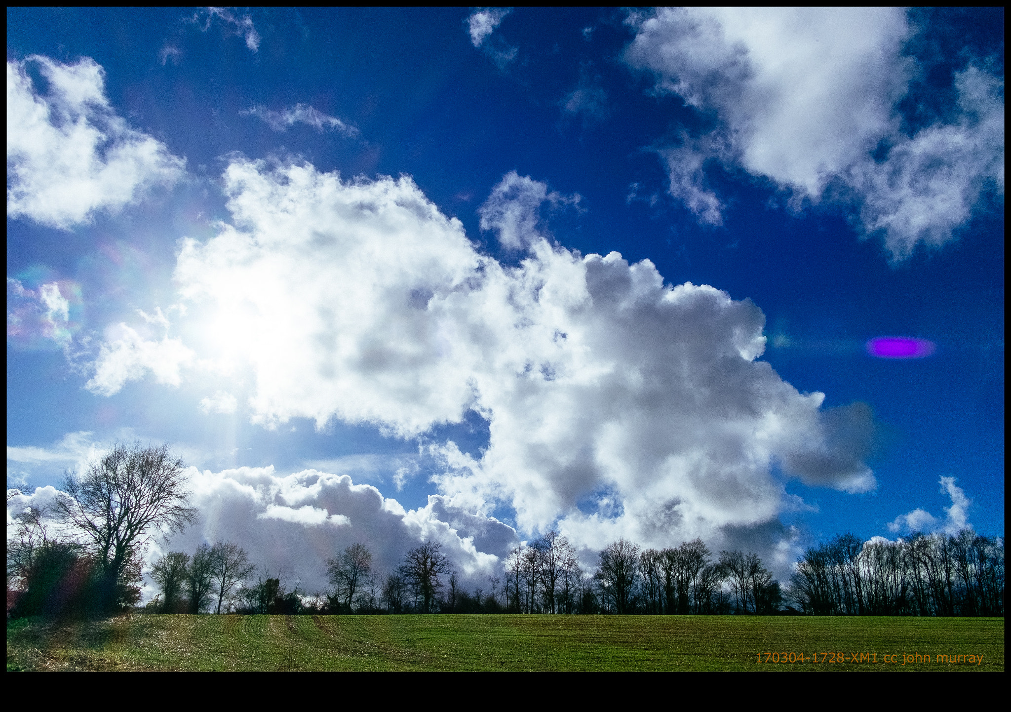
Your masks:
<path fill-rule="evenodd" d="M 305 417 L 426 435 L 448 498 L 428 510 L 464 538 L 482 540 L 467 517 L 504 507 L 522 531 L 557 525 L 581 546 L 717 540 L 803 507 L 780 471 L 875 486 L 869 411 L 825 411 L 822 393 L 758 360 L 754 303 L 667 285 L 648 260 L 550 244 L 537 210 L 562 198 L 544 183 L 507 174 L 481 208 L 482 228 L 526 249 L 509 267 L 407 177 L 235 157 L 222 182 L 234 225 L 182 241 L 175 273 L 193 367 L 251 373 L 250 417 L 267 427 Z M 432 440 L 468 412 L 488 423 L 479 456 Z"/>

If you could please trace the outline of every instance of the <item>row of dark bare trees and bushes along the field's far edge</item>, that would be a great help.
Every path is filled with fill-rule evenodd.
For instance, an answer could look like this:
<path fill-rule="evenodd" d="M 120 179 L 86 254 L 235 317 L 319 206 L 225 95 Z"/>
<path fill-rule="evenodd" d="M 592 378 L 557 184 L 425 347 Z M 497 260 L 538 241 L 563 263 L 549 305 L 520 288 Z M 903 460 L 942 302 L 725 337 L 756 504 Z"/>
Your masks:
<path fill-rule="evenodd" d="M 117 444 L 68 473 L 50 510 L 17 515 L 7 542 L 8 615 L 103 614 L 141 599 L 142 554 L 157 534 L 196 518 L 182 461 L 166 445 Z M 17 491 L 8 491 L 8 501 Z M 59 521 L 70 538 L 52 537 Z M 258 567 L 235 542 L 168 552 L 151 576 L 149 610 L 167 613 L 541 613 L 1003 616 L 1004 540 L 971 529 L 864 542 L 852 534 L 809 548 L 780 587 L 753 552 L 701 539 L 641 549 L 619 539 L 583 566 L 557 531 L 514 548 L 487 588 L 465 590 L 438 542 L 373 569 L 356 543 L 327 561 L 331 589 L 307 595 Z M 13 609 L 12 609 L 13 604 Z"/>

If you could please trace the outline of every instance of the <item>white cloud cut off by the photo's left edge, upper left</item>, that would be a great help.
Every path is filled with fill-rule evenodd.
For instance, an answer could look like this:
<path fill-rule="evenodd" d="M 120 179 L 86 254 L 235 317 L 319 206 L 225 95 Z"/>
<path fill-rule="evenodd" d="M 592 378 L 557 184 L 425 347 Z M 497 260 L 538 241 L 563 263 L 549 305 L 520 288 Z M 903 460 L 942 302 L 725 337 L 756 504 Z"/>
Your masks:
<path fill-rule="evenodd" d="M 44 79 L 36 88 L 34 67 Z M 7 63 L 7 214 L 69 230 L 184 175 L 185 161 L 131 128 L 105 96 L 103 70 L 33 55 Z"/>

